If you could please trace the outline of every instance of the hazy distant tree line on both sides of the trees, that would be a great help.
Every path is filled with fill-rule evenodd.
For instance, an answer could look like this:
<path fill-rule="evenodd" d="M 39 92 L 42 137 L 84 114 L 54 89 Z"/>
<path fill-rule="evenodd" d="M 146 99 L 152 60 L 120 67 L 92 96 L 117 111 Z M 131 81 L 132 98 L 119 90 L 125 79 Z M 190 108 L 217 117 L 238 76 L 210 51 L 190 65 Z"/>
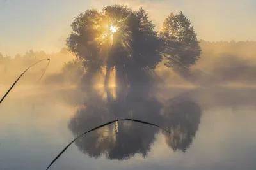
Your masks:
<path fill-rule="evenodd" d="M 214 69 L 216 69 L 216 65 L 218 65 L 219 67 L 237 67 L 241 65 L 244 66 L 244 60 L 246 59 L 252 61 L 250 63 L 255 65 L 255 46 L 255 41 L 210 42 L 200 40 L 202 54 L 200 55 L 200 60 L 198 60 L 194 67 L 213 72 Z M 31 50 L 24 55 L 17 54 L 15 55 L 15 57 L 4 56 L 0 54 L 0 83 L 11 83 L 15 78 L 17 78 L 17 76 L 19 76 L 20 73 L 22 73 L 22 71 L 24 71 L 24 69 L 26 69 L 26 67 L 33 64 L 37 60 L 45 59 L 47 57 L 51 58 L 51 65 L 49 66 L 49 70 L 45 75 L 46 77 L 48 73 L 67 73 L 70 74 L 70 76 L 67 77 L 70 78 L 70 80 L 66 81 L 72 82 L 71 78 L 74 77 L 74 74 L 81 75 L 82 73 L 84 73 L 84 71 L 86 71 L 81 68 L 81 62 L 75 60 L 74 55 L 68 52 L 67 48 L 63 48 L 62 50 L 60 50 L 60 52 L 57 53 L 45 53 L 44 51 L 36 52 Z M 235 64 L 234 62 L 236 62 L 237 64 Z M 38 76 L 41 69 L 44 69 L 44 67 L 39 67 L 38 69 L 35 68 L 29 73 L 35 73 L 35 75 Z M 159 69 L 164 68 L 160 67 Z M 219 71 L 221 70 L 219 69 Z M 230 71 L 232 71 L 232 69 L 230 69 Z M 49 80 L 59 80 L 61 82 L 65 81 L 63 80 L 63 78 L 60 77 L 60 74 L 57 74 L 55 76 L 51 75 L 51 78 L 49 78 Z"/>

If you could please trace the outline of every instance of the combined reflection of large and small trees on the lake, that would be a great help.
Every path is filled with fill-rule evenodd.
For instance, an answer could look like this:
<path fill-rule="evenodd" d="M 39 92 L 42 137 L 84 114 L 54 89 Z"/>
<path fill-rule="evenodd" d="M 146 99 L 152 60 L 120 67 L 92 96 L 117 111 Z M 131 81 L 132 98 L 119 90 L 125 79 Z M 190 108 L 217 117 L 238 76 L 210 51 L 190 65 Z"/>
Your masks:
<path fill-rule="evenodd" d="M 116 118 L 134 118 L 164 127 L 172 133 L 167 135 L 163 132 L 166 144 L 174 152 L 186 152 L 195 139 L 202 114 L 200 106 L 188 94 L 162 104 L 150 96 L 150 88 L 145 88 L 145 85 L 121 89 L 125 93 L 120 92 L 117 97 L 111 96 L 109 89 L 106 89 L 106 100 L 95 90 L 88 90 L 88 100 L 77 108 L 70 120 L 69 128 L 75 137 Z M 84 154 L 95 158 L 105 156 L 110 160 L 124 160 L 136 153 L 145 158 L 158 132 L 156 127 L 124 120 L 77 139 L 76 146 Z"/>

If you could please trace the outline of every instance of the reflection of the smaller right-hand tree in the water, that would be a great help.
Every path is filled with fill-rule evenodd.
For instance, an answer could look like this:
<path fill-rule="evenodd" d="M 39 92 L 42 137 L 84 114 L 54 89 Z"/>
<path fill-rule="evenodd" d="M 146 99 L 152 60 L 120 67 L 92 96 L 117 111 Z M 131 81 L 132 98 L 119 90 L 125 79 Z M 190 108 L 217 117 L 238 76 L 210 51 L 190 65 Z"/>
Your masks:
<path fill-rule="evenodd" d="M 164 125 L 171 132 L 166 138 L 170 148 L 186 152 L 195 138 L 201 114 L 200 106 L 190 99 L 180 97 L 166 102 Z"/>

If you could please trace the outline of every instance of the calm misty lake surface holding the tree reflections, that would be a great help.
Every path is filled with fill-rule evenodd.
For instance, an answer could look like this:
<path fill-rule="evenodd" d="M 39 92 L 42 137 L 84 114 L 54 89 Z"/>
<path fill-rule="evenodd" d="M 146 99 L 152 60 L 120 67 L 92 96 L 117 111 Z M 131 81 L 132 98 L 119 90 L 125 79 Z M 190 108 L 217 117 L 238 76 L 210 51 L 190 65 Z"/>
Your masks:
<path fill-rule="evenodd" d="M 3 94 L 8 87 L 1 87 Z M 170 87 L 111 98 L 74 87 L 15 87 L 0 106 L 0 169 L 256 169 L 256 89 Z M 147 90 L 146 90 L 147 91 Z"/>

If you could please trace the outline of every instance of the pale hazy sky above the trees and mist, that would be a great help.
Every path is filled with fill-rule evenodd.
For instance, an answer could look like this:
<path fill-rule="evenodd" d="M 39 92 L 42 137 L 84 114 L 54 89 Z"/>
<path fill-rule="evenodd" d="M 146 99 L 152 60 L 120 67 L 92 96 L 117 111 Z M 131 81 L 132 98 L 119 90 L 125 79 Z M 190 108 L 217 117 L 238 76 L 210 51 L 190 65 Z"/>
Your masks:
<path fill-rule="evenodd" d="M 198 39 L 256 41 L 255 0 L 0 0 L 0 52 L 54 52 L 65 46 L 74 17 L 108 4 L 143 6 L 159 30 L 170 12 L 183 11 Z"/>

